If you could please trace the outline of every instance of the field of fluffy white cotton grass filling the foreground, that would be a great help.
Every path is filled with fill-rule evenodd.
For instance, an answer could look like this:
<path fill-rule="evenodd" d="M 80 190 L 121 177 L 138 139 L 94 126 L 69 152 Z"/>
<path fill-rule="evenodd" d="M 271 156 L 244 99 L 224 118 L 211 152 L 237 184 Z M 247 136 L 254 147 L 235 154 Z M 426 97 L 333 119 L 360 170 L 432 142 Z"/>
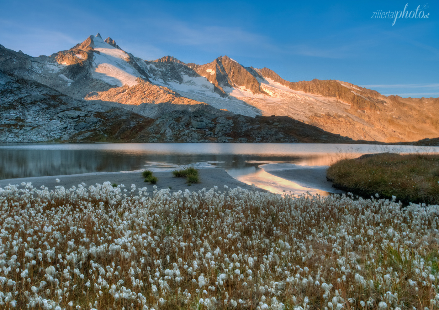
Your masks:
<path fill-rule="evenodd" d="M 2 309 L 438 309 L 439 206 L 0 189 Z"/>

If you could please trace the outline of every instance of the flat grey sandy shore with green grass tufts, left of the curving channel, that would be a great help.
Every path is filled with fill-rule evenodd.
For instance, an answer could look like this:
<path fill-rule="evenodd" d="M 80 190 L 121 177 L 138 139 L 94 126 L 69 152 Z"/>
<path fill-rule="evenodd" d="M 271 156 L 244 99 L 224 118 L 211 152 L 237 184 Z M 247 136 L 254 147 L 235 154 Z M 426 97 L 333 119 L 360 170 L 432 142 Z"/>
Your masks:
<path fill-rule="evenodd" d="M 202 188 L 211 189 L 214 185 L 218 186 L 219 190 L 224 190 L 224 185 L 229 188 L 241 187 L 243 189 L 253 189 L 251 185 L 247 185 L 243 182 L 239 182 L 232 178 L 225 170 L 221 168 L 202 168 L 199 170 L 201 183 L 187 185 L 184 178 L 174 178 L 171 171 L 158 171 L 154 172 L 157 176 L 157 189 L 171 188 L 173 192 L 178 190 L 184 191 L 189 189 L 191 192 L 198 191 Z M 56 179 L 59 179 L 59 183 Z M 40 188 L 44 185 L 49 189 L 55 189 L 55 186 L 61 185 L 66 189 L 72 186 L 78 186 L 84 182 L 87 186 L 95 185 L 96 183 L 102 184 L 109 181 L 112 184 L 123 184 L 127 189 L 130 189 L 131 184 L 135 184 L 137 188 L 147 187 L 147 192 L 152 192 L 153 185 L 148 182 L 143 182 L 144 178 L 141 176 L 140 171 L 133 172 L 95 172 L 84 173 L 79 175 L 54 175 L 46 177 L 30 177 L 30 178 L 12 178 L 0 180 L 0 187 L 11 185 L 19 185 L 22 182 L 32 182 L 32 186 Z M 258 189 L 261 190 L 261 189 Z"/>

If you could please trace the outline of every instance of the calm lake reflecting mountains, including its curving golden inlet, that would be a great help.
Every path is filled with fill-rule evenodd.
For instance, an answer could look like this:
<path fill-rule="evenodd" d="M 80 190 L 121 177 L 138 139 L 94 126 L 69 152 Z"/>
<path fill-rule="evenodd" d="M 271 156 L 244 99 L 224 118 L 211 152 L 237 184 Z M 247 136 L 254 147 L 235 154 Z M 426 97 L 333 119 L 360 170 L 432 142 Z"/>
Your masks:
<path fill-rule="evenodd" d="M 301 143 L 47 143 L 0 145 L 0 180 L 87 172 L 173 170 L 193 164 L 217 166 L 234 178 L 272 192 L 305 193 L 314 189 L 278 178 L 259 166 L 327 166 L 344 157 L 367 153 L 439 153 L 439 147 Z M 270 166 L 272 167 L 272 166 Z M 284 167 L 284 166 L 283 166 Z M 288 168 L 288 167 L 286 167 Z M 334 192 L 334 191 L 332 191 Z"/>

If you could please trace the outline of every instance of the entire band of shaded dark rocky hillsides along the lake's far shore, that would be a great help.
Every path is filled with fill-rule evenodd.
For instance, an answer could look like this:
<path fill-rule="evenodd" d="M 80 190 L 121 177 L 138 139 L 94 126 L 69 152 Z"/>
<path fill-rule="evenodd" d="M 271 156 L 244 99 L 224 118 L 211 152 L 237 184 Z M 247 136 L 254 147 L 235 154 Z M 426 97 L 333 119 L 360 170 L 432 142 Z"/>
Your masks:
<path fill-rule="evenodd" d="M 97 101 L 76 100 L 2 70 L 0 98 L 0 143 L 352 142 L 288 117 L 251 118 L 225 111 L 218 116 L 199 108 L 151 119 Z"/>

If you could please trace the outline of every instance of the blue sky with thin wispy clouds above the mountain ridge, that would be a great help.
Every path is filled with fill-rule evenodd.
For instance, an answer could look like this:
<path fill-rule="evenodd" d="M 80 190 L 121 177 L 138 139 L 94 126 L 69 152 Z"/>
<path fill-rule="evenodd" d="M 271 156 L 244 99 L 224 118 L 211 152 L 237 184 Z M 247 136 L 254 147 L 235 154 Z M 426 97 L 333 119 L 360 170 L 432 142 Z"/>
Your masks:
<path fill-rule="evenodd" d="M 147 60 L 205 64 L 228 55 L 293 82 L 337 79 L 385 95 L 439 97 L 439 3 L 423 1 L 0 0 L 0 44 L 50 55 L 100 32 Z M 371 18 L 406 4 L 409 13 L 427 4 L 428 18 Z"/>

